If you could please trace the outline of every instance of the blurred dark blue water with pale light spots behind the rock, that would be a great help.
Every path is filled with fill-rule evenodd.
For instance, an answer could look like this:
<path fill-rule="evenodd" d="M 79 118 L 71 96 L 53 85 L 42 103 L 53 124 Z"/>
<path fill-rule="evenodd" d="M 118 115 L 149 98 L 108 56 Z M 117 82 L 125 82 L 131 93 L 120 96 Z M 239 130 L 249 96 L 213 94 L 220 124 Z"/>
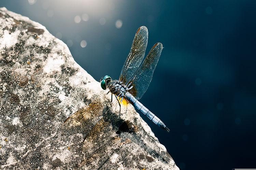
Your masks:
<path fill-rule="evenodd" d="M 147 52 L 156 42 L 164 49 L 140 101 L 171 132 L 141 116 L 177 166 L 255 167 L 256 1 L 1 0 L 0 6 L 43 24 L 96 80 L 118 79 L 135 32 L 146 26 Z M 75 23 L 84 13 L 88 21 Z"/>

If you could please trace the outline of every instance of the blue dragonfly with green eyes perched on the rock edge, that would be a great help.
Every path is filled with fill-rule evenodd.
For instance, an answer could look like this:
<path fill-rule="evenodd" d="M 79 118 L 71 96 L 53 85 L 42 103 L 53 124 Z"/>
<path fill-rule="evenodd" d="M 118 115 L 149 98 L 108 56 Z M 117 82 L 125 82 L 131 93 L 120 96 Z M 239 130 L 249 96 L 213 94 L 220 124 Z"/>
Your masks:
<path fill-rule="evenodd" d="M 86 107 L 77 111 L 77 113 L 82 113 L 83 115 L 97 115 L 99 111 L 102 111 L 100 99 L 110 93 L 111 101 L 108 102 L 113 102 L 113 96 L 115 97 L 114 100 L 119 104 L 119 115 L 121 112 L 121 104 L 125 101 L 127 104 L 132 104 L 136 107 L 160 128 L 167 132 L 170 131 L 156 115 L 138 101 L 142 98 L 152 80 L 154 70 L 163 48 L 161 43 L 156 43 L 143 61 L 147 41 L 148 31 L 145 26 L 142 26 L 137 30 L 134 36 L 130 52 L 123 65 L 119 79 L 112 80 L 109 75 L 102 77 L 100 79 L 101 88 L 108 92 L 105 94 L 103 92 L 97 95 L 95 100 Z M 67 122 L 70 117 L 68 117 L 65 122 Z"/>

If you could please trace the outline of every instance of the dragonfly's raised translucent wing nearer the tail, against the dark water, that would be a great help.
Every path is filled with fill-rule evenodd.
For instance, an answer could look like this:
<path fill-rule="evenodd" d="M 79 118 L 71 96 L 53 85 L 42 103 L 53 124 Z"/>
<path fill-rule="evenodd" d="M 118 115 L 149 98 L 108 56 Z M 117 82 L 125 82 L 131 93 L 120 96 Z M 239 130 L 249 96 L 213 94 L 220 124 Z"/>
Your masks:
<path fill-rule="evenodd" d="M 162 44 L 155 44 L 150 52 L 147 54 L 141 67 L 134 73 L 129 81 L 133 88 L 129 91 L 136 99 L 140 99 L 146 92 L 155 71 L 157 62 L 161 55 Z M 128 84 L 128 83 L 127 83 Z"/>

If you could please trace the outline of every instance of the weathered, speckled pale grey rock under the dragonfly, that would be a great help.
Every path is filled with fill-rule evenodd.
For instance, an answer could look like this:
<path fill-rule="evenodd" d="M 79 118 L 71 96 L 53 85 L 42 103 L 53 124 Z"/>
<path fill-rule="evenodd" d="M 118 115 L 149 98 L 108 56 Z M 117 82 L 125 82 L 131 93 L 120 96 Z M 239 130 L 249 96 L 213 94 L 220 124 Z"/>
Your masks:
<path fill-rule="evenodd" d="M 63 124 L 101 91 L 61 40 L 0 8 L 0 169 L 179 169 L 132 106 Z"/>

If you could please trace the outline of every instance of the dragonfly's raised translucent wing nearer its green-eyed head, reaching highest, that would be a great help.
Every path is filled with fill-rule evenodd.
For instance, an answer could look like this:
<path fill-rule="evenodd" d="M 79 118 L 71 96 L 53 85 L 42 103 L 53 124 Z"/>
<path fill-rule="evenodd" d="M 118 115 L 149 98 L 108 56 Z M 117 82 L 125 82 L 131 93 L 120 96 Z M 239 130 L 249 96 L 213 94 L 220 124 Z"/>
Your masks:
<path fill-rule="evenodd" d="M 147 28 L 145 26 L 140 27 L 134 36 L 130 53 L 121 70 L 120 81 L 126 83 L 141 65 L 147 47 L 147 38 Z"/>

